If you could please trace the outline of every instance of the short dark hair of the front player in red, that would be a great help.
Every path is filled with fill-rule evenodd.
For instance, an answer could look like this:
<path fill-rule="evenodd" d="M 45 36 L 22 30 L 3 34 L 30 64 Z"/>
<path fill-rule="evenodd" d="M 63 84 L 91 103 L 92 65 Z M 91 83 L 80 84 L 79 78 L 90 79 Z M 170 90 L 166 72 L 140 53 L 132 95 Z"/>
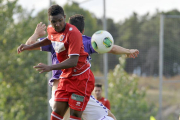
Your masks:
<path fill-rule="evenodd" d="M 59 5 L 52 5 L 49 9 L 48 9 L 48 15 L 49 16 L 55 16 L 58 14 L 62 14 L 64 15 L 64 10 L 61 6 Z"/>

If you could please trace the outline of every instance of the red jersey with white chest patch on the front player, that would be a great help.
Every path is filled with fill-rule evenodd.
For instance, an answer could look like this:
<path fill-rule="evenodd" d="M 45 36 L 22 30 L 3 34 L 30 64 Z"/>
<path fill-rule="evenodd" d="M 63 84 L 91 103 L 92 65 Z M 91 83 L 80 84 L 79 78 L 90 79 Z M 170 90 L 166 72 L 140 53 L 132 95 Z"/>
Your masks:
<path fill-rule="evenodd" d="M 54 28 L 49 25 L 47 32 L 48 39 L 52 42 L 59 62 L 68 59 L 70 55 L 79 55 L 77 66 L 61 69 L 62 74 L 60 78 L 77 76 L 90 68 L 90 64 L 87 61 L 88 53 L 84 51 L 82 34 L 75 26 L 66 23 L 64 31 L 56 32 Z"/>

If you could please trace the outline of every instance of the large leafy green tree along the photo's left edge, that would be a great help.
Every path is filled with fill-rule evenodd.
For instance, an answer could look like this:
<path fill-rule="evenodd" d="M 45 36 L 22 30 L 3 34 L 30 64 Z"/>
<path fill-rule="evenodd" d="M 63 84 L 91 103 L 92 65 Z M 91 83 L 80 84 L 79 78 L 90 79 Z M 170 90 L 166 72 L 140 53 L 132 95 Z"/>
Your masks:
<path fill-rule="evenodd" d="M 18 6 L 17 0 L 0 1 L 0 115 L 4 120 L 42 120 L 47 118 L 47 78 L 38 74 L 33 65 L 46 63 L 46 54 L 24 52 L 17 47 L 25 43 L 40 21 L 47 21 L 43 13 L 37 19 L 32 12 Z M 47 16 L 47 15 L 46 15 Z M 45 20 L 46 18 L 46 20 Z M 38 91 L 38 92 L 37 92 Z"/>

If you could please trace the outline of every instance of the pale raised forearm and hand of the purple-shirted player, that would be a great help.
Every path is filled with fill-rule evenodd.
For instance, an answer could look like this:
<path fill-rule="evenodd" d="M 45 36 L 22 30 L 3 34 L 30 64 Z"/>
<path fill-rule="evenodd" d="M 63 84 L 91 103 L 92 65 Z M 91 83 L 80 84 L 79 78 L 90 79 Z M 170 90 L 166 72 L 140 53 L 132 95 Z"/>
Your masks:
<path fill-rule="evenodd" d="M 42 37 L 44 35 L 46 35 L 46 25 L 43 24 L 42 22 L 38 23 L 36 26 L 36 29 L 34 31 L 34 34 L 26 41 L 26 45 L 31 45 L 37 42 L 37 39 L 39 37 Z M 35 48 L 32 50 L 39 50 L 40 48 Z"/>

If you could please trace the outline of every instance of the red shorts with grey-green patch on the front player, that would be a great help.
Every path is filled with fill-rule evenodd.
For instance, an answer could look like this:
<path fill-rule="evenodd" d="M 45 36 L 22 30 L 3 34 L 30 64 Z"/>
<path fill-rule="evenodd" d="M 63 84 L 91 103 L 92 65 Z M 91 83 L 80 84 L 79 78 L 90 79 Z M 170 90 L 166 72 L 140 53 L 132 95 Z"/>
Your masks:
<path fill-rule="evenodd" d="M 61 78 L 54 100 L 68 102 L 71 109 L 84 111 L 94 89 L 94 82 L 90 69 L 78 76 Z"/>

